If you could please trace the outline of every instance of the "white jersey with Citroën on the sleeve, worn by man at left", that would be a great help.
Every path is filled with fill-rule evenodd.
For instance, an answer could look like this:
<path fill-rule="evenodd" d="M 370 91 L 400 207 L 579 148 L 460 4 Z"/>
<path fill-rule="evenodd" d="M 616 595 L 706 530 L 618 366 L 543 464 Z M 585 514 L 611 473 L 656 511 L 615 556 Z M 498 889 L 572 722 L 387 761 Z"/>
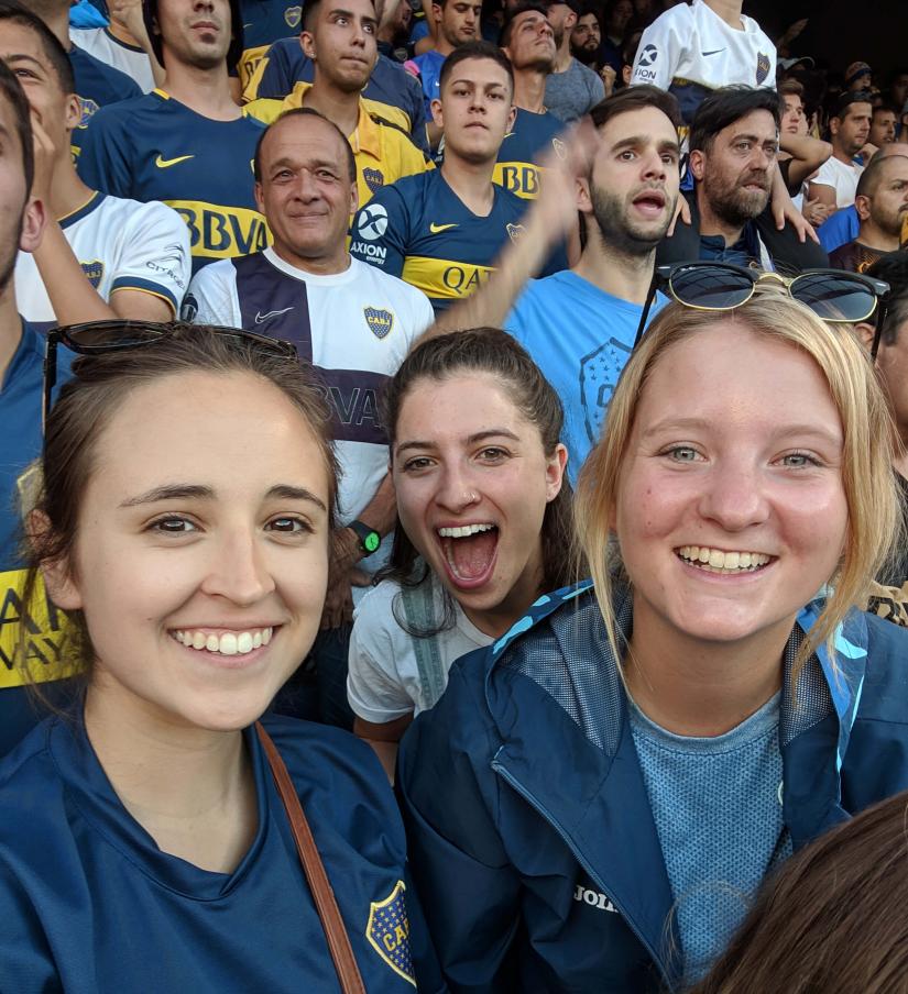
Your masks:
<path fill-rule="evenodd" d="M 142 290 L 162 297 L 174 314 L 193 275 L 189 230 L 164 203 L 123 200 L 95 192 L 84 207 L 59 222 L 66 241 L 91 286 L 109 301 L 114 290 Z M 15 300 L 26 321 L 56 323 L 34 257 L 15 262 Z"/>

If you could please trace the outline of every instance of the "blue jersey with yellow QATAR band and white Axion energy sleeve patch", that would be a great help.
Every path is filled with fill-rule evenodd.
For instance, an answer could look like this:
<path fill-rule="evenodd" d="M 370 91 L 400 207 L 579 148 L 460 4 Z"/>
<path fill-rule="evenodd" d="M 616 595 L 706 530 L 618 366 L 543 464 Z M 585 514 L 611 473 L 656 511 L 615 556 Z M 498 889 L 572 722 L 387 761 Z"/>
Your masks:
<path fill-rule="evenodd" d="M 358 211 L 350 253 L 405 279 L 436 311 L 444 310 L 485 283 L 508 239 L 523 233 L 526 205 L 502 187 L 494 189 L 492 210 L 480 218 L 438 169 L 400 179 Z"/>

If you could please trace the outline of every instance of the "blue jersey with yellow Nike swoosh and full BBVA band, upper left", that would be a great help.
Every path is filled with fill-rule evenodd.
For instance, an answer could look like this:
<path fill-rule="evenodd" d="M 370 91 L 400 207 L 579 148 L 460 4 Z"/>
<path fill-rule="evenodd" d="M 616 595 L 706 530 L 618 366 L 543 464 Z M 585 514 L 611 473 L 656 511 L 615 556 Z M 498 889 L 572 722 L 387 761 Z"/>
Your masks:
<path fill-rule="evenodd" d="M 98 111 L 78 170 L 92 189 L 161 200 L 177 211 L 189 229 L 197 272 L 267 245 L 252 175 L 263 128 L 248 117 L 212 121 L 153 90 Z"/>

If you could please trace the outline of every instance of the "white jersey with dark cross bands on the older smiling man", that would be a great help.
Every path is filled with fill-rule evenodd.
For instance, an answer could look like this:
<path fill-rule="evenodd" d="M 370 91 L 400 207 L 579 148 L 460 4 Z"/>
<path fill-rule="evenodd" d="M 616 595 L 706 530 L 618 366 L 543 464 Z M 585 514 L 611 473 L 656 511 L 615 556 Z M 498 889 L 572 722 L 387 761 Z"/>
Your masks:
<path fill-rule="evenodd" d="M 339 518 L 358 518 L 387 472 L 380 395 L 435 320 L 428 298 L 359 259 L 343 273 L 316 276 L 266 248 L 200 269 L 184 318 L 292 341 L 311 361 L 335 417 Z M 382 542 L 382 553 L 390 544 Z M 374 572 L 385 557 L 371 555 L 360 566 Z"/>

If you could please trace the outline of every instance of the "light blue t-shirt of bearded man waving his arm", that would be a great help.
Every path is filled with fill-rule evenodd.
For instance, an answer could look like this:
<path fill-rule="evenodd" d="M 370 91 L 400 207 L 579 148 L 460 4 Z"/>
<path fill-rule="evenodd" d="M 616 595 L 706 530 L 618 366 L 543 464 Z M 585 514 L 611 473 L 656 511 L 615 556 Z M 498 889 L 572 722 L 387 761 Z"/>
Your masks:
<path fill-rule="evenodd" d="M 667 302 L 659 295 L 649 319 Z M 565 405 L 561 440 L 568 446 L 571 486 L 599 440 L 642 311 L 639 303 L 613 297 L 566 269 L 530 279 L 504 321 Z"/>

